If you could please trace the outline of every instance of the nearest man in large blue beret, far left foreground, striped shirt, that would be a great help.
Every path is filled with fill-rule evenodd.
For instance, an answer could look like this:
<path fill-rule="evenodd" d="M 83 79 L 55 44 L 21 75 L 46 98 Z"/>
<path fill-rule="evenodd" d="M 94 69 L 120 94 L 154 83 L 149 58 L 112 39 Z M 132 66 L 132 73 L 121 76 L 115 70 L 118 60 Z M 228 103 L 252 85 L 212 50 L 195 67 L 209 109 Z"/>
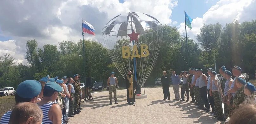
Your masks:
<path fill-rule="evenodd" d="M 26 80 L 20 83 L 16 89 L 15 104 L 21 102 L 36 103 L 41 92 L 41 84 L 35 80 Z M 12 109 L 6 112 L 0 120 L 0 124 L 8 124 Z"/>

